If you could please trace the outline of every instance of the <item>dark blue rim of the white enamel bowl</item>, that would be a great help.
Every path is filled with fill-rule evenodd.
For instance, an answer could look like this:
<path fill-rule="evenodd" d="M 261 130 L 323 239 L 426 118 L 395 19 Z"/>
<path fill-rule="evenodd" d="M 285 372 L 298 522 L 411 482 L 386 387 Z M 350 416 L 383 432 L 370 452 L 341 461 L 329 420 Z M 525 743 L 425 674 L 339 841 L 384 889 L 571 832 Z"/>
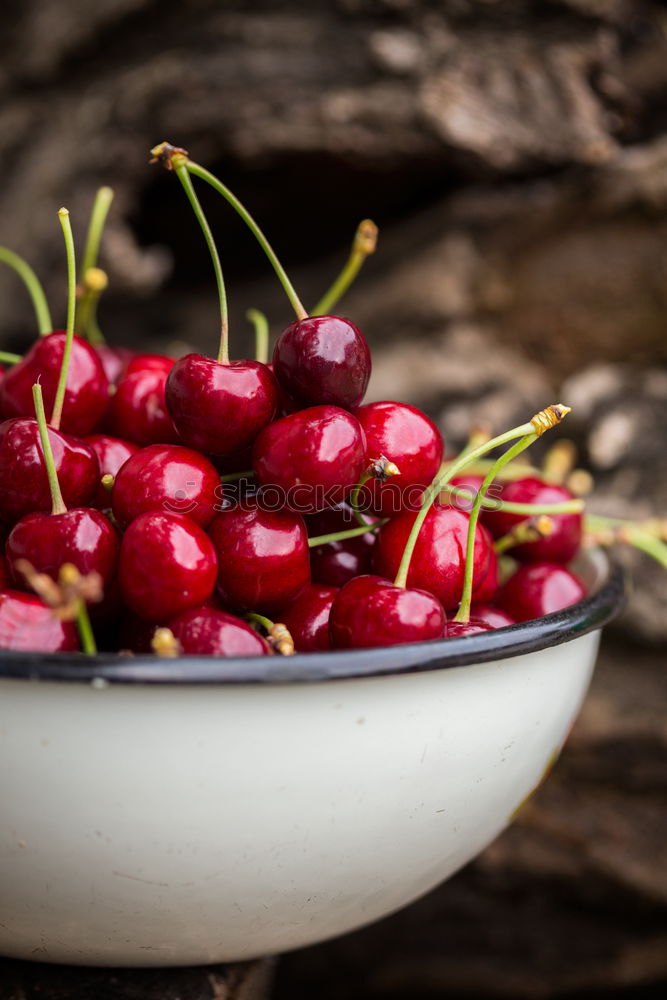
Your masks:
<path fill-rule="evenodd" d="M 106 684 L 295 684 L 465 667 L 558 646 L 601 629 L 622 610 L 625 571 L 605 554 L 604 581 L 554 614 L 456 639 L 295 656 L 119 656 L 0 651 L 0 679 Z"/>

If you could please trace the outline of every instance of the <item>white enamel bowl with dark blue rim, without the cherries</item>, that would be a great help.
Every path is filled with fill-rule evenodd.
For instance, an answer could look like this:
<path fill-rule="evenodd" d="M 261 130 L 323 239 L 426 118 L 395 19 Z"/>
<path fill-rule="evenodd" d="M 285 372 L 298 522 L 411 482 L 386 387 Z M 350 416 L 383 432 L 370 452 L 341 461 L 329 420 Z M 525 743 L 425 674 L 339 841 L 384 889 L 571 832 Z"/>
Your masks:
<path fill-rule="evenodd" d="M 463 639 L 292 658 L 0 654 L 0 954 L 247 959 L 376 920 L 510 821 L 623 580 Z"/>

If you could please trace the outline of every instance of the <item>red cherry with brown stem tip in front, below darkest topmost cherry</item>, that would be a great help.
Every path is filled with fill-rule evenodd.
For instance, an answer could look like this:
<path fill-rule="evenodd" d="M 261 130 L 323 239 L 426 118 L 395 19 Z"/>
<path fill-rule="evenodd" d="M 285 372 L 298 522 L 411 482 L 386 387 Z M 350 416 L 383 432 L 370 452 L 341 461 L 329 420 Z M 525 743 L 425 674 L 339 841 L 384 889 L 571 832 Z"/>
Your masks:
<path fill-rule="evenodd" d="M 354 411 L 366 434 L 367 454 L 380 455 L 398 466 L 389 479 L 368 480 L 362 489 L 363 508 L 382 517 L 417 510 L 423 491 L 440 468 L 443 440 L 432 420 L 407 403 L 368 403 Z"/>

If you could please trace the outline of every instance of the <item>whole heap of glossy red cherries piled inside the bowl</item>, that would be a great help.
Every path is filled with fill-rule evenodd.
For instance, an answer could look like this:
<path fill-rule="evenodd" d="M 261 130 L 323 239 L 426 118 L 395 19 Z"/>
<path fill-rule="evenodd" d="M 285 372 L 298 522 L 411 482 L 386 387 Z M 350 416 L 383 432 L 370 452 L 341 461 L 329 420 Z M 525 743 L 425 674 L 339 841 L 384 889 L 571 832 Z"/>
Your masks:
<path fill-rule="evenodd" d="M 189 197 L 190 174 L 210 177 L 184 151 L 157 155 Z M 354 649 L 487 631 L 584 596 L 567 568 L 582 537 L 568 488 L 502 479 L 473 512 L 486 446 L 471 472 L 443 475 L 457 463 L 443 464 L 424 413 L 363 403 L 361 331 L 298 305 L 268 364 L 228 360 L 224 308 L 219 358 L 174 361 L 74 334 L 70 301 L 67 331 L 44 330 L 5 369 L 0 648 L 92 652 L 96 636 L 164 655 Z M 549 410 L 551 423 L 565 412 Z M 548 533 L 523 530 L 552 510 L 565 512 Z M 502 584 L 498 539 L 513 560 Z"/>

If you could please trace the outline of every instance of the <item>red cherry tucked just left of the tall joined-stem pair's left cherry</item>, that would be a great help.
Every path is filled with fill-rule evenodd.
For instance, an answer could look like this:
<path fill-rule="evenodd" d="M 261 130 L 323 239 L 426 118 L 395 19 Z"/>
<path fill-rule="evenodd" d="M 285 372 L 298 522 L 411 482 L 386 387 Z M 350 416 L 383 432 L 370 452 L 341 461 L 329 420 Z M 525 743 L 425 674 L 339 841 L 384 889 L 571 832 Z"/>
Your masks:
<path fill-rule="evenodd" d="M 111 397 L 107 423 L 115 436 L 141 445 L 178 444 L 165 402 L 167 376 L 173 366 L 173 359 L 162 354 L 132 358 Z"/>

